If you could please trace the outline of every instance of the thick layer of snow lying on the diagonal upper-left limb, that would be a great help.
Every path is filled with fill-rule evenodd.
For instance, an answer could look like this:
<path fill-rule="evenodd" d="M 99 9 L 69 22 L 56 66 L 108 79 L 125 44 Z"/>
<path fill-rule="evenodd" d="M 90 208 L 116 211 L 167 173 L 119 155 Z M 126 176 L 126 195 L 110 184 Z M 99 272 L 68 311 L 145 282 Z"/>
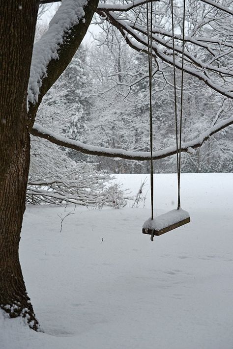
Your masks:
<path fill-rule="evenodd" d="M 87 0 L 63 0 L 50 22 L 49 29 L 35 43 L 28 87 L 30 103 L 38 101 L 42 81 L 47 76 L 48 64 L 52 59 L 59 58 L 58 51 L 63 43 L 64 34 L 85 16 L 83 8 L 86 5 Z"/>

